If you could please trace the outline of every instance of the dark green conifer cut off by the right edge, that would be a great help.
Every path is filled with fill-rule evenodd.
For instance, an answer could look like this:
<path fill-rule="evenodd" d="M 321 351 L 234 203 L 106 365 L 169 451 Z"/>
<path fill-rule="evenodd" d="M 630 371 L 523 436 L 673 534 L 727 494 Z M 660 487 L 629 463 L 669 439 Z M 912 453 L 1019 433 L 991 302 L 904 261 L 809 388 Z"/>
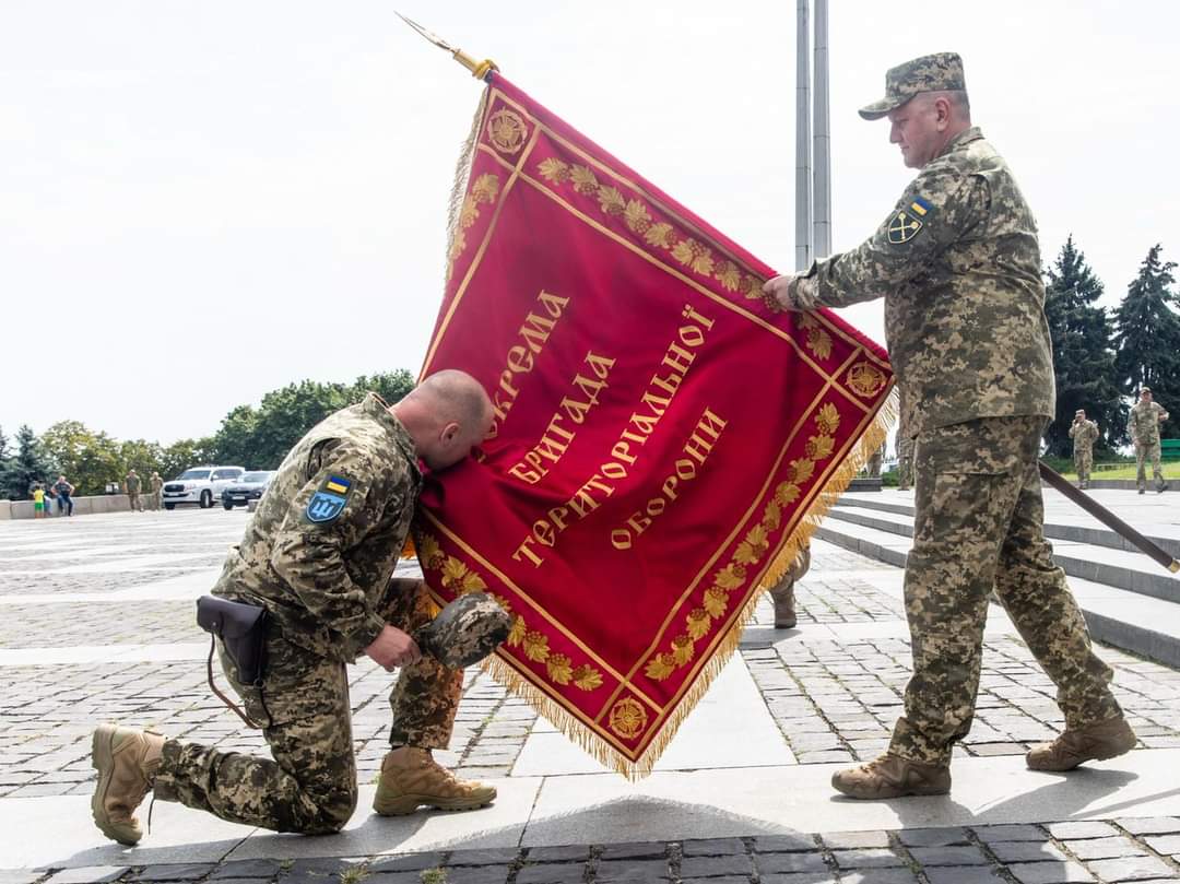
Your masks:
<path fill-rule="evenodd" d="M 1115 369 L 1122 392 L 1135 395 L 1143 385 L 1172 417 L 1165 436 L 1180 434 L 1180 316 L 1172 305 L 1174 261 L 1162 261 L 1156 243 L 1143 258 L 1127 294 L 1115 310 Z"/>

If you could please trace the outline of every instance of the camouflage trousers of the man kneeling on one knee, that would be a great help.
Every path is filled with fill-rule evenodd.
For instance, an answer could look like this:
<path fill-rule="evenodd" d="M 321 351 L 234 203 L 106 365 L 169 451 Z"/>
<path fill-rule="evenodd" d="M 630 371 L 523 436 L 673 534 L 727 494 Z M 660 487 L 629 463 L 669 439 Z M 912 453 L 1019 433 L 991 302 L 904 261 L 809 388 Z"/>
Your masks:
<path fill-rule="evenodd" d="M 380 615 L 412 631 L 431 616 L 417 581 L 393 581 Z M 274 760 L 169 740 L 156 797 L 222 819 L 276 832 L 339 832 L 356 808 L 356 761 L 343 663 L 321 657 L 274 631 L 267 640 L 260 688 L 241 685 L 232 662 L 222 668 L 247 714 L 269 722 L 262 734 Z M 463 673 L 430 657 L 401 670 L 389 698 L 392 745 L 446 748 L 459 706 Z"/>

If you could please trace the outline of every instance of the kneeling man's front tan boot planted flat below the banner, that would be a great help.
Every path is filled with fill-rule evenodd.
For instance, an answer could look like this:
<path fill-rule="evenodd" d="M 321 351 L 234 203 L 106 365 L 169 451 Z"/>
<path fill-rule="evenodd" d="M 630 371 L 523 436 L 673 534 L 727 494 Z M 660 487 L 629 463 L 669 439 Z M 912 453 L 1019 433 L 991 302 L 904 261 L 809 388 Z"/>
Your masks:
<path fill-rule="evenodd" d="M 382 817 L 401 817 L 424 804 L 441 811 L 473 811 L 493 800 L 494 786 L 460 780 L 435 762 L 430 749 L 402 746 L 381 762 L 373 810 Z"/>

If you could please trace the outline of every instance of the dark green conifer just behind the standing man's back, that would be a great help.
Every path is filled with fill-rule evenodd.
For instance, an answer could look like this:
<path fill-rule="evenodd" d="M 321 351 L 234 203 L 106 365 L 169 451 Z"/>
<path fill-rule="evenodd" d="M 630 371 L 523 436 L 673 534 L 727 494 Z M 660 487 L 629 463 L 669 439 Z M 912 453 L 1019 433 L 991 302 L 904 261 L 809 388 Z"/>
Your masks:
<path fill-rule="evenodd" d="M 1074 245 L 1073 235 L 1045 275 L 1044 314 L 1057 386 L 1057 413 L 1045 430 L 1048 453 L 1068 457 L 1073 452 L 1069 426 L 1079 408 L 1097 423 L 1097 446 L 1113 448 L 1126 436 L 1127 410 L 1115 385 L 1114 329 L 1106 308 L 1095 305 L 1102 283 Z"/>

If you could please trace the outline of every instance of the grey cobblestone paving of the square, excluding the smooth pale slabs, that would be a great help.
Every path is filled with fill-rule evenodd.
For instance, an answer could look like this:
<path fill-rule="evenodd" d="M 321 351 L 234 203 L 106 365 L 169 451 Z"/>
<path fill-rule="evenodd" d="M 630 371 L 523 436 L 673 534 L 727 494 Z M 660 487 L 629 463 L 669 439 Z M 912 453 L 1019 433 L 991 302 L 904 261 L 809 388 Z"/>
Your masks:
<path fill-rule="evenodd" d="M 0 523 L 0 651 L 14 655 L 0 666 L 0 800 L 77 797 L 85 806 L 93 782 L 90 734 L 100 720 L 153 725 L 170 736 L 264 752 L 261 738 L 244 731 L 210 695 L 205 635 L 192 622 L 191 594 L 164 589 L 177 578 L 191 579 L 198 592 L 211 584 L 245 518 L 241 511 L 216 510 Z M 753 702 L 765 703 L 760 714 L 778 726 L 789 748 L 789 760 L 780 767 L 806 771 L 866 760 L 887 744 L 910 667 L 899 592 L 886 587 L 891 579 L 896 584 L 896 576 L 889 565 L 817 544 L 812 572 L 799 588 L 801 629 L 772 630 L 769 604 L 759 605 L 741 660 L 759 692 L 752 694 Z M 98 646 L 112 653 L 171 646 L 179 659 L 99 657 L 63 664 L 35 659 L 39 651 Z M 1110 648 L 1099 651 L 1115 670 L 1116 694 L 1140 738 L 1134 754 L 1180 747 L 1180 673 Z M 369 661 L 352 667 L 349 675 L 359 775 L 371 782 L 386 751 L 393 680 Z M 1030 744 L 1050 739 L 1062 726 L 1053 694 L 1017 637 L 989 631 L 976 721 L 956 752 L 983 762 L 1023 754 Z M 452 744 L 437 757 L 461 775 L 516 780 L 523 747 L 544 731 L 551 731 L 548 722 L 523 700 L 472 672 Z M 1168 781 L 1161 786 L 1165 791 Z M 132 851 L 124 853 L 123 865 L 66 870 L 50 864 L 5 871 L 0 849 L 0 884 L 1180 879 L 1180 817 L 1146 818 L 1135 816 L 1134 806 L 1113 807 L 1119 811 L 1104 819 L 939 829 L 903 824 L 773 836 L 752 830 L 750 837 L 627 844 L 596 839 L 591 827 L 584 832 L 585 843 L 570 846 L 464 850 L 460 840 L 460 849 L 441 852 L 375 856 L 354 850 L 345 859 L 145 865 L 135 864 Z M 76 823 L 88 825 L 88 817 Z M 330 857 L 332 839 L 316 842 Z M 228 842 L 221 856 L 237 844 Z"/>

